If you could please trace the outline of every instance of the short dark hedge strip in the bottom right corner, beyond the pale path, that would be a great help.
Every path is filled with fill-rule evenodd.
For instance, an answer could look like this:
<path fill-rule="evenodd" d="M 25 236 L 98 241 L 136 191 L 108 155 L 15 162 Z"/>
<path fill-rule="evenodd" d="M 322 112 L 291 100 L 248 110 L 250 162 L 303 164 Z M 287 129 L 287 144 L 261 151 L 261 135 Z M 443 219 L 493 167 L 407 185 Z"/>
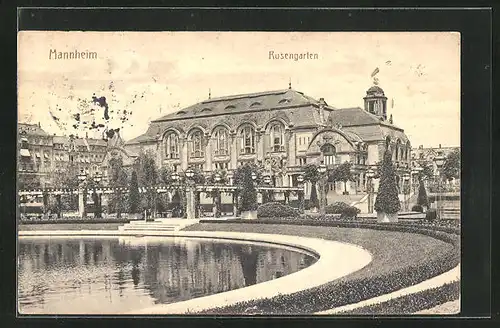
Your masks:
<path fill-rule="evenodd" d="M 446 302 L 458 300 L 460 297 L 460 282 L 455 281 L 424 290 L 415 294 L 405 295 L 391 299 L 387 302 L 364 306 L 351 311 L 340 312 L 340 315 L 394 315 L 410 314 L 427 310 Z"/>

